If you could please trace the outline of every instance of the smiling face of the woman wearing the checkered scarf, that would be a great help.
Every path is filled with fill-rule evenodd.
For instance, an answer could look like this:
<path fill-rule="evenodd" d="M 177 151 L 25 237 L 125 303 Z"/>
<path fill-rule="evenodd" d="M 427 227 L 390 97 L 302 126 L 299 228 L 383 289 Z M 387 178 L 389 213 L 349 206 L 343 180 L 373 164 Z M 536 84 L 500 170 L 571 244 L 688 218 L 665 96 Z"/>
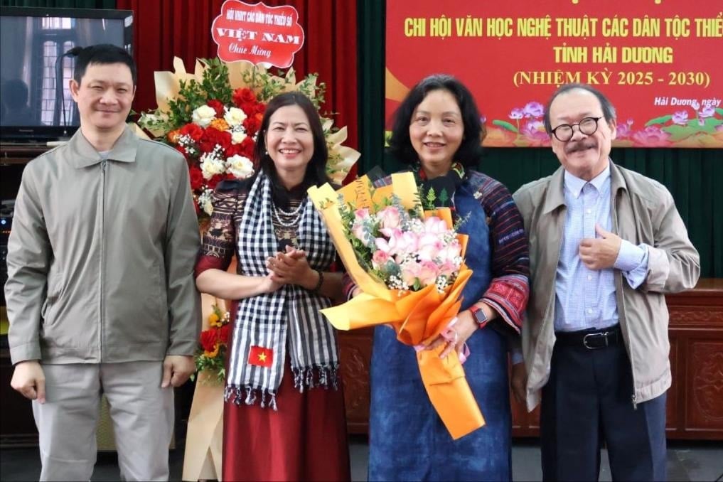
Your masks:
<path fill-rule="evenodd" d="M 278 108 L 269 119 L 265 142 L 279 177 L 304 178 L 314 154 L 314 136 L 301 107 Z"/>

